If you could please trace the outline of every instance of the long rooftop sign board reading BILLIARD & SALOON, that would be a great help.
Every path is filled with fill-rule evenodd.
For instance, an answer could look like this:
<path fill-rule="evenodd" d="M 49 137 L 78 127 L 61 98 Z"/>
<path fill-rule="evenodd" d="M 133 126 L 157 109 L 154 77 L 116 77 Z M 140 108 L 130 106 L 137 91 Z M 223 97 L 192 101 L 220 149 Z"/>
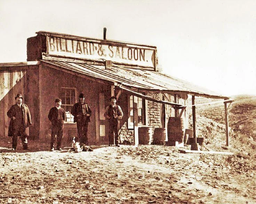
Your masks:
<path fill-rule="evenodd" d="M 155 68 L 156 47 L 61 36 L 46 37 L 47 54 Z"/>

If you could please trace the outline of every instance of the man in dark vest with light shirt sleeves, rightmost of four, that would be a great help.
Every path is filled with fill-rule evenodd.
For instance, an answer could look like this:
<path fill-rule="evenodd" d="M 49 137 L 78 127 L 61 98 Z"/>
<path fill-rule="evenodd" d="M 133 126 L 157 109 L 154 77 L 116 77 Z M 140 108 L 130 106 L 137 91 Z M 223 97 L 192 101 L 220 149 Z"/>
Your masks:
<path fill-rule="evenodd" d="M 122 109 L 119 105 L 115 104 L 117 97 L 112 96 L 110 98 L 110 105 L 106 107 L 104 112 L 105 119 L 109 119 L 109 146 L 113 144 L 115 134 L 115 146 L 119 146 L 119 120 L 123 117 Z"/>

